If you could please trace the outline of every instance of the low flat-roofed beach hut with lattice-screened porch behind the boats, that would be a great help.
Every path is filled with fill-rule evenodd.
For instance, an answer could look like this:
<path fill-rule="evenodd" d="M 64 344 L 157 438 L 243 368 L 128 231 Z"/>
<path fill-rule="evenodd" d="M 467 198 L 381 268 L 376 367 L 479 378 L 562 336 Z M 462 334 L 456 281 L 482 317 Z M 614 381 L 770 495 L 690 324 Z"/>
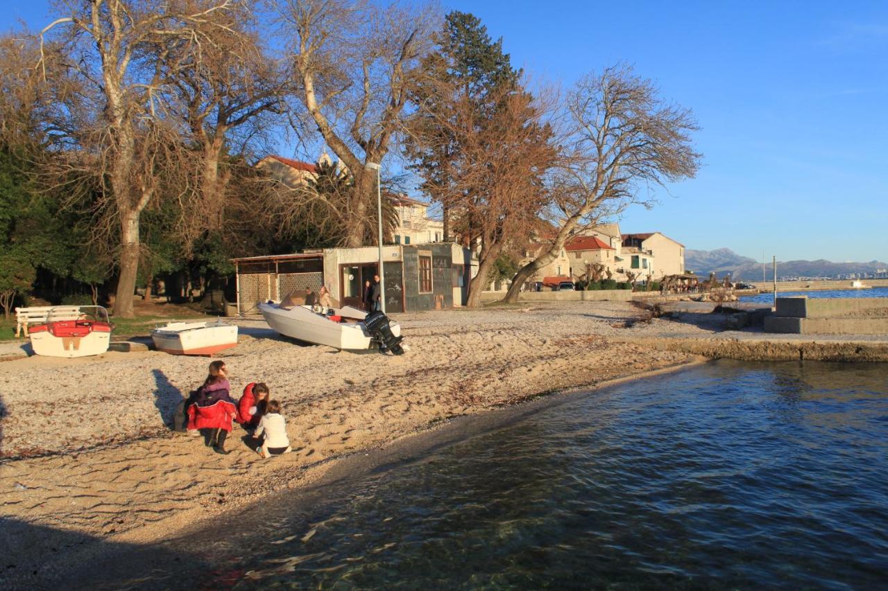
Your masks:
<path fill-rule="evenodd" d="M 290 292 L 327 286 L 337 304 L 361 308 L 364 282 L 377 273 L 379 249 L 324 248 L 290 255 L 234 258 L 239 314 L 256 311 Z M 472 255 L 457 244 L 383 247 L 385 309 L 388 312 L 440 310 L 464 305 Z"/>

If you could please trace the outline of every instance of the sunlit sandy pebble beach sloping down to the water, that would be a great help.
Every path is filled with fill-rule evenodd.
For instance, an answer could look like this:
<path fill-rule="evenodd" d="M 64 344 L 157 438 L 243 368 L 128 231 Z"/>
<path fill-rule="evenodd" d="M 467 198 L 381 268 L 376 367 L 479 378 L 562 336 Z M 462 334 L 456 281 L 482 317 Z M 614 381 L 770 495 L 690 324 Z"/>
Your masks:
<path fill-rule="evenodd" d="M 232 394 L 268 383 L 294 450 L 268 461 L 242 443 L 239 427 L 222 456 L 165 426 L 208 359 L 147 351 L 4 361 L 0 580 L 92 542 L 163 540 L 195 519 L 312 482 L 331 459 L 450 417 L 695 359 L 618 342 L 673 329 L 636 323 L 642 317 L 607 302 L 404 314 L 401 357 L 299 346 L 244 320 L 246 338 L 224 357 Z"/>

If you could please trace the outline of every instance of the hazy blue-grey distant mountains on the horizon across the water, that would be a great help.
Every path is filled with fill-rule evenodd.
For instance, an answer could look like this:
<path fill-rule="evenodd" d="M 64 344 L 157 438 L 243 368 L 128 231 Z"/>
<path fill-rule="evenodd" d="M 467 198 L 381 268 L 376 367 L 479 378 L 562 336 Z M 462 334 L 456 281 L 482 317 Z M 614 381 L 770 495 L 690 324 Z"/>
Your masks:
<path fill-rule="evenodd" d="M 740 256 L 729 248 L 718 250 L 685 251 L 685 268 L 703 277 L 716 272 L 719 277 L 731 273 L 734 280 L 761 280 L 762 263 L 749 256 Z M 843 275 L 867 275 L 884 272 L 888 264 L 881 261 L 868 263 L 833 263 L 824 259 L 816 261 L 777 261 L 777 277 L 834 277 Z M 765 264 L 767 278 L 771 279 L 771 262 Z"/>

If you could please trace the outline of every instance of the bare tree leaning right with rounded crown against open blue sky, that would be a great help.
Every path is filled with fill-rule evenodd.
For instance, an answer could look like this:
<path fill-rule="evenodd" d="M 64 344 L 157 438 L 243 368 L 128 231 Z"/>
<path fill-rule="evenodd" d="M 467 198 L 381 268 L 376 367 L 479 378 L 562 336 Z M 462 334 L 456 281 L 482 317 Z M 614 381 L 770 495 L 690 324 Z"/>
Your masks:
<path fill-rule="evenodd" d="M 520 286 L 551 263 L 578 228 L 631 202 L 650 206 L 649 185 L 694 177 L 702 157 L 691 145 L 694 117 L 657 95 L 630 67 L 609 67 L 576 84 L 567 97 L 563 160 L 551 191 L 558 232 L 550 248 L 515 274 L 506 302 L 518 301 Z"/>

